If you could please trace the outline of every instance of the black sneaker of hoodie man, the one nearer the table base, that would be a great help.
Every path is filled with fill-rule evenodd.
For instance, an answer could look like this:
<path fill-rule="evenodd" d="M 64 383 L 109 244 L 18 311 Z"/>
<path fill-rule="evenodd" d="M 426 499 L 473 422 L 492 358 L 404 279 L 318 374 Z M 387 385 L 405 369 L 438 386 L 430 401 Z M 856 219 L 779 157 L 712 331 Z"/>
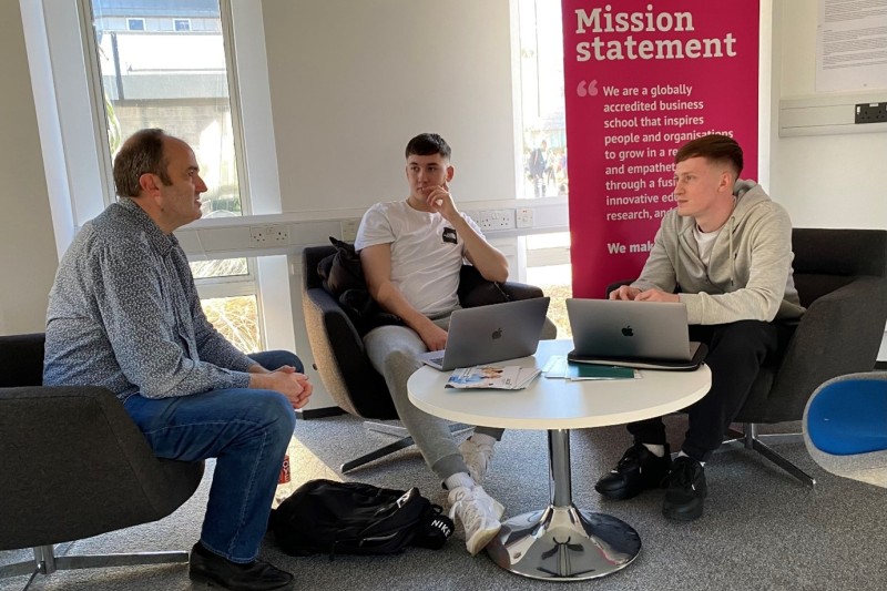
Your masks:
<path fill-rule="evenodd" d="M 665 455 L 661 458 L 643 444 L 634 444 L 616 467 L 598 480 L 594 490 L 609 499 L 631 499 L 644 490 L 661 487 L 671 467 L 669 444 L 665 444 Z"/>

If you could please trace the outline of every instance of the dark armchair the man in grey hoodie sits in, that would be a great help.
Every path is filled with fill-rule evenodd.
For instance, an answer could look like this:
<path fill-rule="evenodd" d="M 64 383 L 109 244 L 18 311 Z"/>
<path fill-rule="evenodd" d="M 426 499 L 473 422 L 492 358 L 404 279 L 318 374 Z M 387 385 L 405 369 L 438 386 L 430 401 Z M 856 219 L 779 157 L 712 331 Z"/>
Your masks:
<path fill-rule="evenodd" d="M 784 436 L 759 435 L 758 426 L 801 420 L 820 384 L 875 367 L 887 323 L 887 231 L 794 228 L 792 249 L 807 312 L 761 368 L 736 417 L 743 430 L 731 429 L 735 439 L 725 444 L 754 449 L 812 487 L 809 475 L 764 442 Z"/>

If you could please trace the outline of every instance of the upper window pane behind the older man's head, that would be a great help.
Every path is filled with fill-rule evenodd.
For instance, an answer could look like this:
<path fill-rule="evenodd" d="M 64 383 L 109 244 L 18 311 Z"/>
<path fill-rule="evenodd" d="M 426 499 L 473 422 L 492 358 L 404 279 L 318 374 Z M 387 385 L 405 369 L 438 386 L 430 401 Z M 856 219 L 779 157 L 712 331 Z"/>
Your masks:
<path fill-rule="evenodd" d="M 175 31 L 162 31 L 154 0 L 91 0 L 94 35 L 91 49 L 98 60 L 104 103 L 109 159 L 122 139 L 143 128 L 163 128 L 194 149 L 201 176 L 210 191 L 204 195 L 204 216 L 241 215 L 245 200 L 238 177 L 237 128 L 232 118 L 226 52 L 218 1 L 164 2 L 165 12 L 179 12 Z M 121 13 L 142 12 L 145 18 Z M 191 17 L 206 23 L 206 31 L 188 32 Z M 139 34 L 129 27 L 142 23 Z M 165 21 L 169 27 L 169 20 Z M 180 28 L 180 23 L 187 29 Z M 150 33 L 150 34 L 143 34 Z M 110 173 L 105 175 L 110 179 Z"/>

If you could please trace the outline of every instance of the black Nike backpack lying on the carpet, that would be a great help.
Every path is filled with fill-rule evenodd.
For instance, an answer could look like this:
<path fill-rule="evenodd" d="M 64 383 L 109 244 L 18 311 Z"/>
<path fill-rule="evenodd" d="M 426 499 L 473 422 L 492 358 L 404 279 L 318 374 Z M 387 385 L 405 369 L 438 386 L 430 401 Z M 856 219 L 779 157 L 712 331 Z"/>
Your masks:
<path fill-rule="evenodd" d="M 419 495 L 363 482 L 309 480 L 272 511 L 269 529 L 289 556 L 392 554 L 407 546 L 439 549 L 452 520 Z"/>

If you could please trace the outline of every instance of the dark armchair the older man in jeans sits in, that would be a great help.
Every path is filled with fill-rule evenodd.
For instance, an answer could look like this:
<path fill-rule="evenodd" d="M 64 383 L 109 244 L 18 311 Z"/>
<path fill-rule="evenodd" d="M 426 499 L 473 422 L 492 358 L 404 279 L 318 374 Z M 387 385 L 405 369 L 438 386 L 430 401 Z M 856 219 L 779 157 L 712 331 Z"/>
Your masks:
<path fill-rule="evenodd" d="M 54 556 L 57 543 L 172 513 L 197 489 L 203 462 L 156 458 L 110 390 L 41 386 L 43 340 L 0 337 L 0 550 L 34 551 L 0 567 L 0 579 L 187 562 L 185 550 Z"/>

